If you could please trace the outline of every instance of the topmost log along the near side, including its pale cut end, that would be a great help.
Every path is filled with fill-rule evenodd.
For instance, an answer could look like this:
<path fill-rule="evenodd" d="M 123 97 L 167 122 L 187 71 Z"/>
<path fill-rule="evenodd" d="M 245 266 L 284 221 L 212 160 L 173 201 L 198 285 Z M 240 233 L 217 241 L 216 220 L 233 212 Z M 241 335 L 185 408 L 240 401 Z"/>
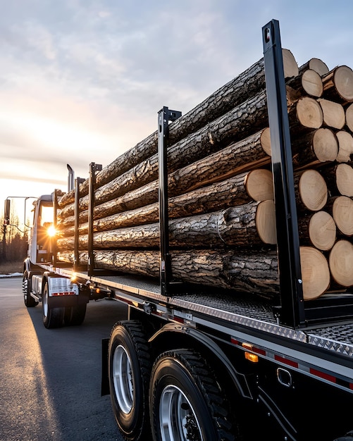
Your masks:
<path fill-rule="evenodd" d="M 294 56 L 288 49 L 283 49 L 283 67 L 285 77 L 298 75 L 298 67 Z M 169 140 L 171 144 L 180 142 L 184 137 L 190 135 L 208 124 L 212 120 L 220 118 L 235 106 L 239 106 L 249 98 L 254 97 L 262 89 L 265 89 L 264 58 L 250 66 L 226 85 L 213 92 L 202 103 L 195 106 L 178 120 L 169 125 Z M 118 176 L 137 164 L 146 161 L 150 156 L 157 153 L 158 133 L 154 132 L 135 147 L 120 155 L 109 166 L 106 166 L 97 173 L 97 187 L 111 182 Z M 88 180 L 80 185 L 82 195 L 88 193 Z M 74 201 L 74 192 L 68 192 L 59 201 L 59 206 L 63 207 Z"/>

